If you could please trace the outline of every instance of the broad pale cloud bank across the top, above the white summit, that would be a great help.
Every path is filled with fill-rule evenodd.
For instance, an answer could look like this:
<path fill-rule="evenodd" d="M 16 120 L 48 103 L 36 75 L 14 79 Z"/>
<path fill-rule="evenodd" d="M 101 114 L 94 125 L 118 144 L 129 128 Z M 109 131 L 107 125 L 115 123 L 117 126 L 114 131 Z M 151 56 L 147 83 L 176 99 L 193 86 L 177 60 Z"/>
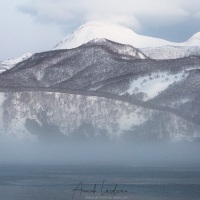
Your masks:
<path fill-rule="evenodd" d="M 198 6 L 197 0 L 32 0 L 19 8 L 43 23 L 106 20 L 138 29 L 144 20 L 158 25 L 184 21 Z"/>

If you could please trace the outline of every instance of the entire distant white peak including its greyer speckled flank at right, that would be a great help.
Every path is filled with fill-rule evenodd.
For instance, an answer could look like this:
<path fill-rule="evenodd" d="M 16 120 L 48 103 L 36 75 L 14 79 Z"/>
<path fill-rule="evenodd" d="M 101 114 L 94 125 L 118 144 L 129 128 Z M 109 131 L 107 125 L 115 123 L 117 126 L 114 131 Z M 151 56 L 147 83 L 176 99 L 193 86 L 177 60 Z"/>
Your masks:
<path fill-rule="evenodd" d="M 152 59 L 176 59 L 190 55 L 200 55 L 200 32 L 194 34 L 185 42 L 175 43 L 139 35 L 124 26 L 101 22 L 88 22 L 82 25 L 58 43 L 54 50 L 76 48 L 92 40 L 103 38 L 140 48 L 144 54 Z"/>

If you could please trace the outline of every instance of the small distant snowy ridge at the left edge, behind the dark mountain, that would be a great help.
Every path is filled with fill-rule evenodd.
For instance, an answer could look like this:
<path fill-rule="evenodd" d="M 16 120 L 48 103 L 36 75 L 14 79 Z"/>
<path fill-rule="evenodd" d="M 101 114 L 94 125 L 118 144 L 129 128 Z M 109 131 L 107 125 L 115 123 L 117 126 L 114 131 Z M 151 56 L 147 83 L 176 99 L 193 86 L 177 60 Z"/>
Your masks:
<path fill-rule="evenodd" d="M 20 57 L 10 58 L 10 59 L 1 61 L 0 62 L 0 73 L 12 68 L 13 66 L 15 66 L 19 62 L 27 60 L 31 56 L 32 56 L 32 54 L 28 52 L 28 53 L 25 53 L 25 54 L 21 55 Z"/>

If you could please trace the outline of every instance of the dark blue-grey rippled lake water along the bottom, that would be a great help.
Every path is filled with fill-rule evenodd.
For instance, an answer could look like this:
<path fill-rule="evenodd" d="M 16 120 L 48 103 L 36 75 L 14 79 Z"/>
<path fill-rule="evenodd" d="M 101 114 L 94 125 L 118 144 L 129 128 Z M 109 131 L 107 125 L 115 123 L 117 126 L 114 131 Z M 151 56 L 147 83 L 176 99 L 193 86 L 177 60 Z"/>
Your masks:
<path fill-rule="evenodd" d="M 200 168 L 0 165 L 1 200 L 72 198 L 197 200 Z"/>

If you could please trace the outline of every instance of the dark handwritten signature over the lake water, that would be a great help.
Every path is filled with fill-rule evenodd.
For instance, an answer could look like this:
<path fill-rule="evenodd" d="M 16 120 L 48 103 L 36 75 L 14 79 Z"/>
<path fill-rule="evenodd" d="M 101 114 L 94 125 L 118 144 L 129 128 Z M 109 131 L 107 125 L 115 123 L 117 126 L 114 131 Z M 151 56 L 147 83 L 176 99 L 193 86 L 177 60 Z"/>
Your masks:
<path fill-rule="evenodd" d="M 128 191 L 127 190 L 122 190 L 118 189 L 118 184 L 115 184 L 112 189 L 106 189 L 105 188 L 105 180 L 103 180 L 100 190 L 97 190 L 97 184 L 94 184 L 93 188 L 91 189 L 84 189 L 84 184 L 80 182 L 73 190 L 72 194 L 72 199 L 74 199 L 75 195 L 79 194 L 80 196 L 83 193 L 87 194 L 97 194 L 100 193 L 99 195 L 119 195 L 119 194 L 126 194 Z"/>

